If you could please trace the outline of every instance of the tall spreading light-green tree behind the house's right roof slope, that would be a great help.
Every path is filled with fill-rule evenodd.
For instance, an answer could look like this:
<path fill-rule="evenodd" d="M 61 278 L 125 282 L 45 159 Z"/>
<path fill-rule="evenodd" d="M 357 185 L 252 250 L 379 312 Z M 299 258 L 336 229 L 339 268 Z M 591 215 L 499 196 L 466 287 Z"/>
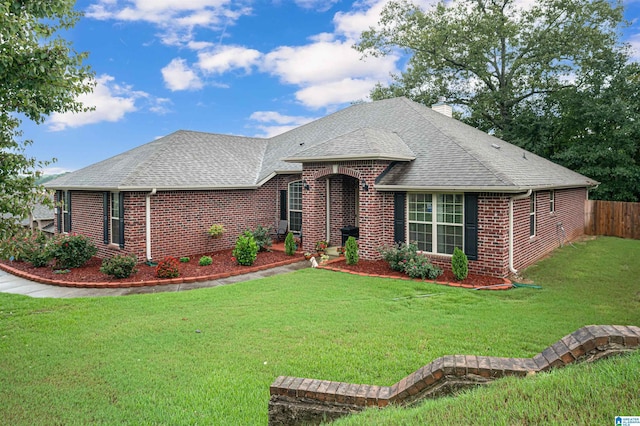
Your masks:
<path fill-rule="evenodd" d="M 621 3 L 607 0 L 458 0 L 428 10 L 398 0 L 355 47 L 410 55 L 390 86 L 374 88 L 374 99 L 444 97 L 470 124 L 508 137 L 523 103 L 574 86 L 576 74 L 619 55 L 622 23 Z"/>

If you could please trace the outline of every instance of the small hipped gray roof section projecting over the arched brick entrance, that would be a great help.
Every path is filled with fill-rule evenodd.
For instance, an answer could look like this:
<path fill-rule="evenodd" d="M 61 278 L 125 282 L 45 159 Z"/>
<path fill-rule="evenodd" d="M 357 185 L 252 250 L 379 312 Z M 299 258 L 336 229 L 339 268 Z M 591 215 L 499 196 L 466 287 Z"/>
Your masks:
<path fill-rule="evenodd" d="M 283 160 L 305 163 L 345 160 L 411 161 L 415 158 L 415 154 L 397 133 L 367 127 L 303 149 Z"/>

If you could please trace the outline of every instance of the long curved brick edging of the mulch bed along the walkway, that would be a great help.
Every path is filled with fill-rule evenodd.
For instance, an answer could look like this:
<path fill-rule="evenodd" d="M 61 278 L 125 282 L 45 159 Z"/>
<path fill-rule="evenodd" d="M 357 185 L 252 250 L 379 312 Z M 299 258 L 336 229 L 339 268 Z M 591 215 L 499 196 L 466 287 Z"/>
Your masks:
<path fill-rule="evenodd" d="M 130 287 L 151 287 L 157 285 L 167 285 L 167 284 L 184 284 L 184 283 L 195 283 L 195 282 L 203 282 L 203 281 L 213 281 L 219 280 L 222 278 L 229 278 L 237 275 L 250 274 L 252 272 L 264 271 L 271 268 L 276 268 L 278 266 L 286 266 L 294 263 L 302 262 L 304 258 L 300 258 L 298 256 L 281 260 L 279 262 L 270 263 L 268 265 L 260 265 L 260 266 L 250 266 L 247 269 L 243 269 L 240 271 L 233 272 L 222 272 L 219 274 L 213 275 L 203 275 L 198 277 L 178 277 L 178 278 L 170 278 L 170 279 L 157 279 L 157 280 L 148 280 L 148 281 L 129 281 L 129 282 L 118 282 L 118 281 L 105 281 L 105 282 L 75 282 L 75 281 L 63 281 L 63 280 L 54 280 L 51 278 L 44 278 L 38 275 L 33 275 L 25 271 L 21 271 L 19 269 L 12 268 L 9 265 L 4 263 L 0 263 L 0 269 L 8 272 L 12 275 L 15 275 L 20 278 L 27 279 L 29 281 L 35 281 L 40 284 L 48 284 L 55 285 L 58 287 L 76 287 L 76 288 L 130 288 Z"/>

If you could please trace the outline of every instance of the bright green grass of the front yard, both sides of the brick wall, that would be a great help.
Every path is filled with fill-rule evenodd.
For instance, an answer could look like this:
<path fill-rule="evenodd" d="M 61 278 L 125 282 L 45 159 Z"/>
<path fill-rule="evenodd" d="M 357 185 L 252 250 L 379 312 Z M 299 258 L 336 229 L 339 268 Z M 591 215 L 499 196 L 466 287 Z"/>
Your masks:
<path fill-rule="evenodd" d="M 183 293 L 0 294 L 0 418 L 18 425 L 266 424 L 269 384 L 278 375 L 391 385 L 446 354 L 530 357 L 583 325 L 640 325 L 639 257 L 640 241 L 565 247 L 527 271 L 542 290 L 480 292 L 307 269 Z M 637 367 L 636 356 L 586 368 L 620 371 L 619 380 L 596 376 L 606 388 L 627 383 L 637 395 Z M 518 386 L 531 387 L 517 392 L 535 394 L 536 383 L 552 380 L 562 389 L 574 380 L 562 374 L 572 371 L 523 380 Z M 589 389 L 585 377 L 570 389 L 578 398 Z M 504 387 L 509 395 L 512 385 L 482 392 Z M 478 394 L 460 400 L 481 409 Z M 587 395 L 584 404 L 621 414 L 609 407 L 629 402 L 613 395 L 611 403 Z M 490 398 L 496 404 L 500 396 Z M 520 399 L 521 410 L 540 411 L 540 399 Z M 457 401 L 428 404 L 444 413 Z M 414 410 L 398 415 L 420 419 Z M 448 423 L 464 423 L 456 413 Z"/>

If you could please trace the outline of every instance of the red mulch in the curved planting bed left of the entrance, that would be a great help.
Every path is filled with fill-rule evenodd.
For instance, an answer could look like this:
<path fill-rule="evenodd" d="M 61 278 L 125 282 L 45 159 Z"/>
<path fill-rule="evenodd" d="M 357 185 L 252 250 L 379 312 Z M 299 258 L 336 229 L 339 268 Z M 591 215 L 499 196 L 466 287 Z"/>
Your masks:
<path fill-rule="evenodd" d="M 216 275 L 227 272 L 242 273 L 247 269 L 247 266 L 238 265 L 235 261 L 231 260 L 232 250 L 222 250 L 215 253 L 205 253 L 196 256 L 190 256 L 190 261 L 186 263 L 180 263 L 180 277 L 201 277 Z M 198 261 L 201 256 L 211 256 L 213 264 L 209 266 L 200 266 Z M 300 254 L 296 254 L 298 258 Z M 290 260 L 291 256 L 287 256 L 281 251 L 272 252 L 260 252 L 253 266 L 264 266 L 284 260 Z M 81 268 L 73 268 L 69 272 L 64 274 L 55 273 L 51 267 L 36 268 L 28 262 L 9 262 L 1 260 L 0 263 L 11 266 L 14 269 L 27 272 L 32 275 L 36 275 L 42 278 L 48 278 L 51 280 L 64 281 L 64 282 L 139 282 L 139 281 L 152 281 L 157 280 L 155 267 L 148 266 L 144 263 L 137 266 L 138 272 L 131 275 L 129 278 L 114 278 L 110 275 L 105 275 L 100 272 L 100 265 L 102 260 L 97 257 L 92 258 Z"/>

